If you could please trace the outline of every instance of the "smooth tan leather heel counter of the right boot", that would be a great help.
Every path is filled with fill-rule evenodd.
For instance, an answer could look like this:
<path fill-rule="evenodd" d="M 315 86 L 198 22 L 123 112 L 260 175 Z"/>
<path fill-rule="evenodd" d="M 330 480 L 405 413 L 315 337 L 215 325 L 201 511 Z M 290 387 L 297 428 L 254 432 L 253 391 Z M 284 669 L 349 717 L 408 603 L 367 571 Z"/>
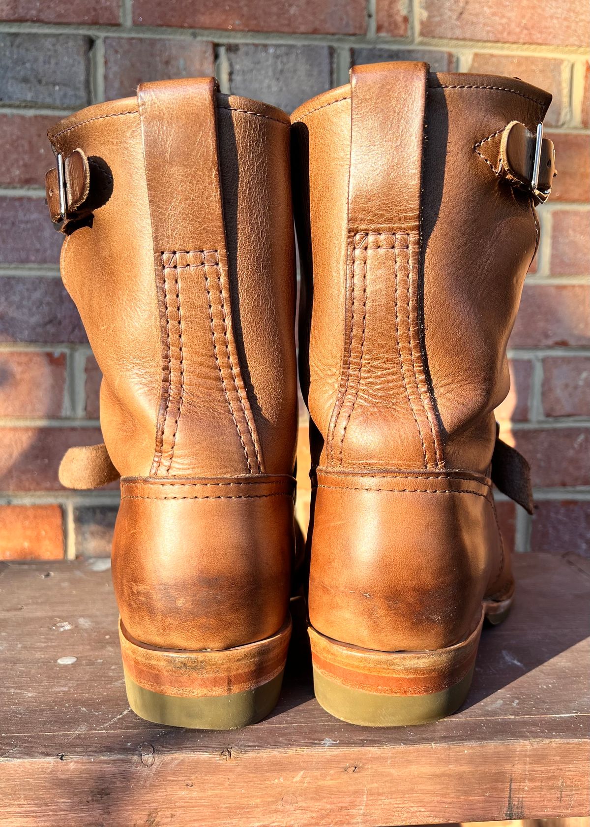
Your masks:
<path fill-rule="evenodd" d="M 310 619 L 383 652 L 457 643 L 504 569 L 490 480 L 318 473 Z"/>

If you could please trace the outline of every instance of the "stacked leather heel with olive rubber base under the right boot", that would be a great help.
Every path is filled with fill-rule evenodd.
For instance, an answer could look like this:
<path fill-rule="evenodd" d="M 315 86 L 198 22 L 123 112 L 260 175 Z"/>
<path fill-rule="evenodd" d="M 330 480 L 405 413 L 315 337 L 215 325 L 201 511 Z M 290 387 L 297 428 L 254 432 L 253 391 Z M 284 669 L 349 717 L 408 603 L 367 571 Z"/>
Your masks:
<path fill-rule="evenodd" d="M 482 617 L 469 638 L 432 652 L 377 652 L 339 643 L 310 627 L 319 704 L 363 726 L 426 724 L 464 702 L 478 652 Z"/>

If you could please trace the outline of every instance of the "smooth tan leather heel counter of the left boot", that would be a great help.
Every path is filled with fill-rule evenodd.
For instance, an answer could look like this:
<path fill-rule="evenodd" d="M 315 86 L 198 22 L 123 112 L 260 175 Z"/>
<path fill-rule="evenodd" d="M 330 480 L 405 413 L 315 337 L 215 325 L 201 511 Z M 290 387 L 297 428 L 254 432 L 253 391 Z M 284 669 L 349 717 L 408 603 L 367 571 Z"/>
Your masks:
<path fill-rule="evenodd" d="M 293 558 L 288 476 L 121 481 L 112 577 L 131 635 L 225 649 L 285 620 Z"/>

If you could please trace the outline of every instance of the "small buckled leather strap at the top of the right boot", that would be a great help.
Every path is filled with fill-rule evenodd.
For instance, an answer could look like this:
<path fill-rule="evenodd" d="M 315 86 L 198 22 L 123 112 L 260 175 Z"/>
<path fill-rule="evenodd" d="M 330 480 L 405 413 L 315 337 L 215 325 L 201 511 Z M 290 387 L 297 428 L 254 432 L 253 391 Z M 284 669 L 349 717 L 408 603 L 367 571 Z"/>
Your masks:
<path fill-rule="evenodd" d="M 535 203 L 545 203 L 551 193 L 555 171 L 553 141 L 543 136 L 543 124 L 535 132 L 524 123 L 511 121 L 507 127 L 479 141 L 475 151 L 498 178 L 513 187 L 528 190 Z"/>

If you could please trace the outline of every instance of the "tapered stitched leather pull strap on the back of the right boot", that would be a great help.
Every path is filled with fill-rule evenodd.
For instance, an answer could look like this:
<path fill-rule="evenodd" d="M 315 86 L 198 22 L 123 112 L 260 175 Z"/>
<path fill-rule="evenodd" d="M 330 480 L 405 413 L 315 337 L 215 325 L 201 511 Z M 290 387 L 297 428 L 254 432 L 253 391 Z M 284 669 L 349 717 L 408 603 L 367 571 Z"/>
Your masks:
<path fill-rule="evenodd" d="M 354 454 L 346 435 L 364 428 L 372 405 L 399 418 L 402 466 L 444 465 L 421 349 L 420 222 L 426 118 L 425 63 L 357 66 L 350 72 L 347 342 L 331 419 L 328 459 Z M 378 388 L 378 399 L 375 399 Z M 393 416 L 395 412 L 395 417 Z M 397 421 L 397 420 L 396 420 Z M 357 440 L 359 443 L 359 440 Z"/>

